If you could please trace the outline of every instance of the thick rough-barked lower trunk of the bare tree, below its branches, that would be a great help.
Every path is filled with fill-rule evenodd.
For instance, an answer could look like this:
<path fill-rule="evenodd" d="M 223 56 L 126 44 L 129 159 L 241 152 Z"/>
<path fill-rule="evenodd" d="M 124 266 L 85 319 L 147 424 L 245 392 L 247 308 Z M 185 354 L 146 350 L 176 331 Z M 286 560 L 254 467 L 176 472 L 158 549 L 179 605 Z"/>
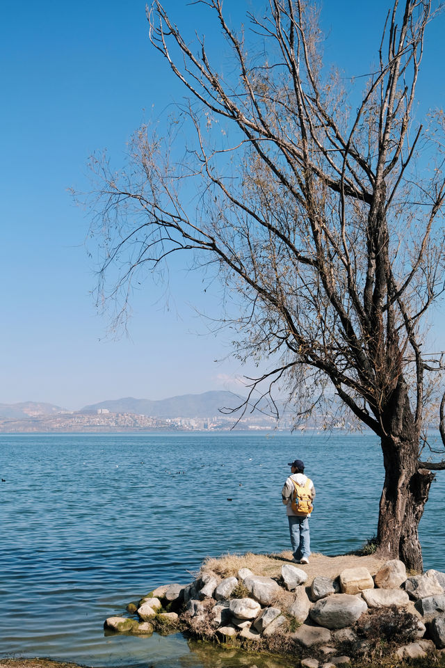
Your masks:
<path fill-rule="evenodd" d="M 378 555 L 401 559 L 413 571 L 423 571 L 418 527 L 435 475 L 418 468 L 419 438 L 382 438 L 385 484 L 380 498 Z"/>

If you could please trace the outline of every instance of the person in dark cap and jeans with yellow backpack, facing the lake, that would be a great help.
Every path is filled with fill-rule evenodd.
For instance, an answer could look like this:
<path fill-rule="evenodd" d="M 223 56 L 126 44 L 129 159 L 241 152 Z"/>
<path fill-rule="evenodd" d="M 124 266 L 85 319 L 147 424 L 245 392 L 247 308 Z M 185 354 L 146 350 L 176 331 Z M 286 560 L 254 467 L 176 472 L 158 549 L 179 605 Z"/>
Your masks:
<path fill-rule="evenodd" d="M 301 459 L 291 461 L 288 466 L 291 467 L 291 475 L 286 479 L 281 495 L 289 520 L 293 559 L 298 564 L 309 564 L 309 517 L 314 508 L 315 487 L 305 475 L 305 464 Z"/>

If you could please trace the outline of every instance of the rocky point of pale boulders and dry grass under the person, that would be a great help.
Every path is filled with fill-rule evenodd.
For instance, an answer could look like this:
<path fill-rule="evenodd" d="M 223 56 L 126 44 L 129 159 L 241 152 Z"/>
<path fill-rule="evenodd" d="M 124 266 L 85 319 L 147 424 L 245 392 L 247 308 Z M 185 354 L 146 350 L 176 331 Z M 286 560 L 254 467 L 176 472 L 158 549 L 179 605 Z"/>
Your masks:
<path fill-rule="evenodd" d="M 439 660 L 445 652 L 445 573 L 410 575 L 397 560 L 318 555 L 303 566 L 284 555 L 227 555 L 204 562 L 193 582 L 163 584 L 127 610 L 106 619 L 108 632 L 181 630 L 307 668 Z"/>

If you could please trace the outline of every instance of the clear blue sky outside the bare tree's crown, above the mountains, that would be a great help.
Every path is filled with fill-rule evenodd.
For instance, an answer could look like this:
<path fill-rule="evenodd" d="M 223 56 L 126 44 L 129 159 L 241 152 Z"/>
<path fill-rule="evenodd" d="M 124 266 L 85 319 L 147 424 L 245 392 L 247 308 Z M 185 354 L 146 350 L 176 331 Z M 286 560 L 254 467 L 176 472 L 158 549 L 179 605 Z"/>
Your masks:
<path fill-rule="evenodd" d="M 191 33 L 212 34 L 204 9 L 182 0 L 165 6 Z M 234 24 L 252 6 L 259 4 L 225 1 Z M 326 1 L 326 60 L 347 74 L 366 72 L 385 8 L 383 0 Z M 444 101 L 443 34 L 439 17 L 419 84 L 425 107 Z M 3 0 L 0 45 L 0 402 L 75 409 L 124 396 L 239 389 L 243 367 L 227 358 L 229 333 L 206 335 L 194 310 L 218 305 L 217 292 L 204 296 L 199 274 L 175 268 L 168 306 L 163 289 L 147 284 L 134 299 L 130 338 L 106 335 L 108 321 L 90 295 L 88 219 L 67 189 L 88 189 L 95 150 L 106 148 L 121 164 L 140 122 L 162 118 L 184 95 L 149 44 L 145 2 Z"/>

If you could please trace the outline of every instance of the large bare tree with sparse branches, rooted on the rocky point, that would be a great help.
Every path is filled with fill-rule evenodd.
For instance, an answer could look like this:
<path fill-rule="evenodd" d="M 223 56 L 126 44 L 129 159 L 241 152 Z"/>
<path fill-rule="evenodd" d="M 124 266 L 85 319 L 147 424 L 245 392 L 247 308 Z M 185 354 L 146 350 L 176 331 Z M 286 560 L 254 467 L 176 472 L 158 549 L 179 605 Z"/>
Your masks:
<path fill-rule="evenodd" d="M 125 307 L 136 276 L 159 271 L 171 253 L 214 264 L 242 305 L 236 353 L 274 360 L 253 385 L 285 382 L 299 401 L 305 389 L 333 386 L 378 434 L 380 554 L 421 570 L 419 520 L 433 471 L 445 468 L 422 460 L 442 370 L 440 356 L 422 351 L 422 327 L 444 292 L 444 118 L 432 114 L 426 127 L 413 109 L 439 7 L 394 0 L 357 103 L 356 85 L 326 74 L 314 3 L 268 0 L 261 19 L 248 15 L 261 58 L 226 22 L 221 0 L 201 4 L 229 47 L 229 75 L 155 0 L 150 40 L 189 97 L 168 136 L 136 133 L 122 173 L 93 160 L 101 278 L 119 268 L 111 295 L 124 289 Z M 180 118 L 189 136 L 181 160 Z"/>

